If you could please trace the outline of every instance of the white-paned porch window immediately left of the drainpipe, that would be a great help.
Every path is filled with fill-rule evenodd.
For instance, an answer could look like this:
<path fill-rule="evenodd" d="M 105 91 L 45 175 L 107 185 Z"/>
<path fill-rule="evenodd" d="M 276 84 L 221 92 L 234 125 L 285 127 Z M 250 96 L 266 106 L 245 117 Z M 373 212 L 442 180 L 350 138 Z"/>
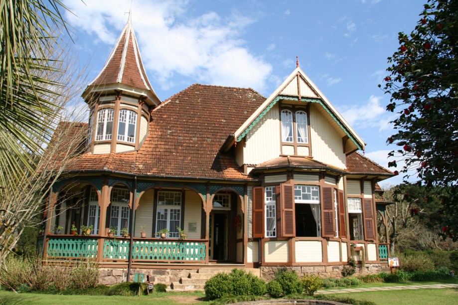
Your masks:
<path fill-rule="evenodd" d="M 116 235 L 121 235 L 121 230 L 124 228 L 129 229 L 130 196 L 131 193 L 127 188 L 114 187 L 111 191 L 110 228 L 116 227 Z"/>

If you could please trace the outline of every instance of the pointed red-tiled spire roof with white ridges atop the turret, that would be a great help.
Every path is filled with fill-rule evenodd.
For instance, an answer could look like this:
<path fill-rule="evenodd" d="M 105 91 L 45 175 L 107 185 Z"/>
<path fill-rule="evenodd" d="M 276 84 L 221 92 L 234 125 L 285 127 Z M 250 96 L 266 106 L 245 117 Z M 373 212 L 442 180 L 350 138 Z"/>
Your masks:
<path fill-rule="evenodd" d="M 102 71 L 88 85 L 83 96 L 90 91 L 105 91 L 108 87 L 117 87 L 116 90 L 133 91 L 146 95 L 153 104 L 160 103 L 143 66 L 134 27 L 132 26 L 132 12 L 126 26 L 121 32 L 118 41 L 108 58 Z"/>

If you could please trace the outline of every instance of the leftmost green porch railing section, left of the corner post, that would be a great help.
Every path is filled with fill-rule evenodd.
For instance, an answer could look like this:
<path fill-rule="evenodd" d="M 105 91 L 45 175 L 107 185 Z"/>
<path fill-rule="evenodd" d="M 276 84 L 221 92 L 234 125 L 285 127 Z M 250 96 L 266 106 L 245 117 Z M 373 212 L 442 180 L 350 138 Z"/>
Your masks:
<path fill-rule="evenodd" d="M 49 238 L 49 257 L 97 257 L 97 239 L 92 238 Z"/>

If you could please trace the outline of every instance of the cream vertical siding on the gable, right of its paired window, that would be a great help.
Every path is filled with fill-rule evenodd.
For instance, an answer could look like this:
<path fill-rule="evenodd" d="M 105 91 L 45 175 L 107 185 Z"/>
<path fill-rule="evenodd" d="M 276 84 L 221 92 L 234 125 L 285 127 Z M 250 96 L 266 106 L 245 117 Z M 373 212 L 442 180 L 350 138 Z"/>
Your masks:
<path fill-rule="evenodd" d="M 312 105 L 310 107 L 310 139 L 312 156 L 339 168 L 345 168 L 345 153 L 343 153 L 342 137 L 335 130 L 334 124 L 329 124 L 323 115 Z"/>

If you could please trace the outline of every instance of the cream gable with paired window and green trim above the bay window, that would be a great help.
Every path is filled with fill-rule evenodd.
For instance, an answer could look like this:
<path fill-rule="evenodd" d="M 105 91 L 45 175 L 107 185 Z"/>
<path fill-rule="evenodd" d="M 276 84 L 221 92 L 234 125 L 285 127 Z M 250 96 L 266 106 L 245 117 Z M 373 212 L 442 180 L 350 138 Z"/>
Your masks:
<path fill-rule="evenodd" d="M 278 157 L 313 159 L 345 169 L 364 141 L 299 67 L 234 133 L 237 163 L 250 167 Z"/>

